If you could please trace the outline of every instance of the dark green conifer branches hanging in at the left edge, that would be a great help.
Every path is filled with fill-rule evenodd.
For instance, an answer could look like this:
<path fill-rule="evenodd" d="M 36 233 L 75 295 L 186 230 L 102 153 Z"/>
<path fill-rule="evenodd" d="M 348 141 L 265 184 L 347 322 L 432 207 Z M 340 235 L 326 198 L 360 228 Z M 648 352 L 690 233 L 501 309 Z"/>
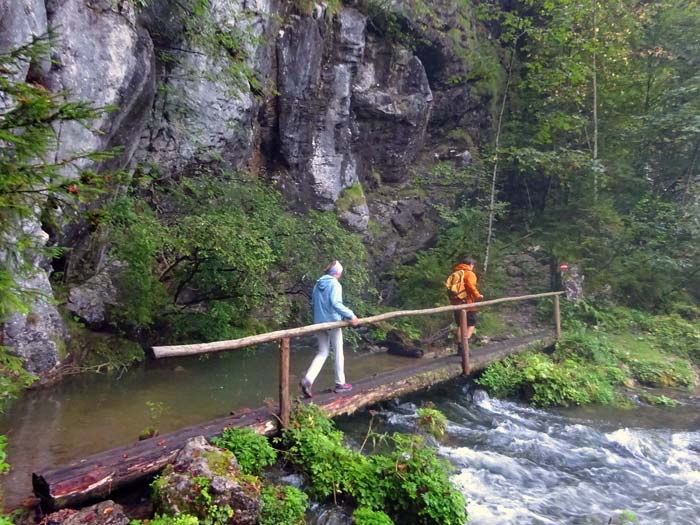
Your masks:
<path fill-rule="evenodd" d="M 113 154 L 76 153 L 61 161 L 50 160 L 56 147 L 55 126 L 63 122 L 89 125 L 105 111 L 83 102 L 65 102 L 63 94 L 21 80 L 25 67 L 48 56 L 51 45 L 50 37 L 37 37 L 0 53 L 0 321 L 13 312 L 29 313 L 32 301 L 43 298 L 37 290 L 20 285 L 19 277 L 36 271 L 32 261 L 38 256 L 50 258 L 60 251 L 45 248 L 38 236 L 27 233 L 26 224 L 38 223 L 41 210 L 47 216 L 69 215 L 93 196 L 102 177 L 78 172 L 76 163 Z"/>

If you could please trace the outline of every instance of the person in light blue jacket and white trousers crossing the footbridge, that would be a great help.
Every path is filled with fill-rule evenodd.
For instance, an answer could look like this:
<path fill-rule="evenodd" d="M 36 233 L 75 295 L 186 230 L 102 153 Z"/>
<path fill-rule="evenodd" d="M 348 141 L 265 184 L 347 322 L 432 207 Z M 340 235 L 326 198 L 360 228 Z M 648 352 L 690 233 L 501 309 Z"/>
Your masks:
<path fill-rule="evenodd" d="M 333 261 L 326 267 L 324 275 L 316 281 L 311 294 L 314 309 L 314 323 L 329 323 L 350 319 L 353 326 L 359 322 L 350 308 L 343 304 L 343 287 L 338 279 L 343 275 L 343 266 L 339 261 Z M 301 380 L 301 390 L 306 397 L 313 397 L 313 385 L 323 364 L 328 358 L 330 345 L 335 352 L 335 392 L 349 392 L 352 385 L 345 382 L 345 357 L 343 355 L 343 332 L 341 328 L 333 328 L 316 334 L 318 353 L 306 375 Z"/>

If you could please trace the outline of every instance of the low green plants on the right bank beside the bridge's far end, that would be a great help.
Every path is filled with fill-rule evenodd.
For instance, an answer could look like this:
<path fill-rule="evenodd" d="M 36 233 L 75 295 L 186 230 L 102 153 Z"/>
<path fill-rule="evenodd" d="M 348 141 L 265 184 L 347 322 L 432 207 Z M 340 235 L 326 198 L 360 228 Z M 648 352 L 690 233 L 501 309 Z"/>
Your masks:
<path fill-rule="evenodd" d="M 544 406 L 609 403 L 613 387 L 632 379 L 651 387 L 694 385 L 688 358 L 696 358 L 700 334 L 680 316 L 585 301 L 564 302 L 562 314 L 564 337 L 551 357 L 510 357 L 490 366 L 479 382 L 496 396 L 524 396 Z"/>

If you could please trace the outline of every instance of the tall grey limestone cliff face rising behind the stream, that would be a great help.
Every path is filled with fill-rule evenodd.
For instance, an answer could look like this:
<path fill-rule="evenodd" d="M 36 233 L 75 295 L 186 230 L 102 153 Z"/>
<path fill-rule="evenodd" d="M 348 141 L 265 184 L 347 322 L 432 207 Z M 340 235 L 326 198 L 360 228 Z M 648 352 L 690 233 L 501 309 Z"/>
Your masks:
<path fill-rule="evenodd" d="M 359 184 L 366 202 L 344 210 L 341 219 L 367 232 L 372 218 L 386 241 L 383 258 L 411 257 L 433 234 L 426 206 L 386 195 L 407 181 L 419 159 L 432 158 L 430 145 L 442 144 L 450 126 L 466 120 L 468 127 L 483 128 L 485 112 L 479 114 L 465 83 L 455 84 L 465 71 L 455 65 L 453 46 L 435 20 L 415 24 L 420 45 L 411 51 L 388 40 L 355 2 L 335 13 L 319 2 L 310 14 L 290 4 L 210 2 L 217 24 L 248 35 L 246 64 L 261 86 L 245 77 L 231 85 L 230 57 L 188 33 L 186 14 L 170 0 L 154 0 L 140 12 L 132 0 L 2 2 L 0 50 L 54 28 L 59 38 L 52 63 L 28 66 L 25 74 L 74 100 L 118 108 L 89 129 L 70 123 L 57 129 L 57 159 L 120 146 L 122 153 L 108 164 L 82 161 L 78 167 L 138 165 L 183 176 L 201 163 L 254 167 L 299 209 L 334 209 L 343 190 Z M 437 4 L 444 23 L 451 23 L 453 3 Z M 410 9 L 406 13 L 410 22 Z M 74 247 L 68 266 L 76 274 L 82 269 L 85 281 L 109 266 L 90 258 L 96 243 L 80 228 L 58 235 Z M 48 284 L 45 271 L 37 275 Z M 49 302 L 37 313 L 55 322 L 20 316 L 5 327 L 5 341 L 42 372 L 58 363 L 56 349 L 46 351 L 48 342 L 64 335 Z"/>

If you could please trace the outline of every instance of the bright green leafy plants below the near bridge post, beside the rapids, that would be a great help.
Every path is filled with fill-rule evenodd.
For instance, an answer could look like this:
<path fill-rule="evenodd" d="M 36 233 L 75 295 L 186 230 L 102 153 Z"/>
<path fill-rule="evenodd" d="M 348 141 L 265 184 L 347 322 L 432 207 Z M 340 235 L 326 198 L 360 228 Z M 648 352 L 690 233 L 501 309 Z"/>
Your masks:
<path fill-rule="evenodd" d="M 350 498 L 407 525 L 466 521 L 464 497 L 449 481 L 449 463 L 420 436 L 394 434 L 385 441 L 389 454 L 369 458 L 346 449 L 342 440 L 318 407 L 295 408 L 282 443 L 290 461 L 309 476 L 312 496 Z"/>

